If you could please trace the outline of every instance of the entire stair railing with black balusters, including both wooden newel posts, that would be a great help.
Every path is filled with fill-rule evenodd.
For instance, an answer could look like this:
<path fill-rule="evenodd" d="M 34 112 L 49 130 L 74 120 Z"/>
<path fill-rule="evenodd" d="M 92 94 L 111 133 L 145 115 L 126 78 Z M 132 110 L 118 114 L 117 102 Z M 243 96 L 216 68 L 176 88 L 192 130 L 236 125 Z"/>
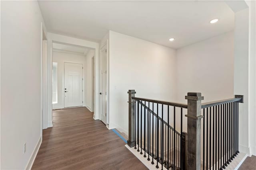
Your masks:
<path fill-rule="evenodd" d="M 128 94 L 128 146 L 156 168 L 223 170 L 239 153 L 238 103 L 243 103 L 242 95 L 201 103 L 201 93 L 188 92 L 188 104 L 180 104 L 137 98 L 135 90 Z M 183 132 L 184 116 L 187 132 Z"/>

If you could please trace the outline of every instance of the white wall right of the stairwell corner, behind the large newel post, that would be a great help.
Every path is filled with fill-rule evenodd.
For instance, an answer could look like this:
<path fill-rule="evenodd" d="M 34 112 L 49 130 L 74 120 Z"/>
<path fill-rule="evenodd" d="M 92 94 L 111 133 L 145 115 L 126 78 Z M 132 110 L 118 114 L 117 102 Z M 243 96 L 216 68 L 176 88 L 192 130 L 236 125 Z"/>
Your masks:
<path fill-rule="evenodd" d="M 176 98 L 186 103 L 188 92 L 201 92 L 202 102 L 234 97 L 234 32 L 177 50 Z"/>

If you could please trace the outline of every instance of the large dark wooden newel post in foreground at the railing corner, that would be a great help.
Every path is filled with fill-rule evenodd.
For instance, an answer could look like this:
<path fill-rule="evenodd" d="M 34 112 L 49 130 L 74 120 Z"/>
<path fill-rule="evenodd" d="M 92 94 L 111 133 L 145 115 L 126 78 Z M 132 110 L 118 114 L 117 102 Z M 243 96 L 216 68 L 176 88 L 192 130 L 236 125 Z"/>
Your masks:
<path fill-rule="evenodd" d="M 201 93 L 189 92 L 188 100 L 188 169 L 201 170 Z"/>

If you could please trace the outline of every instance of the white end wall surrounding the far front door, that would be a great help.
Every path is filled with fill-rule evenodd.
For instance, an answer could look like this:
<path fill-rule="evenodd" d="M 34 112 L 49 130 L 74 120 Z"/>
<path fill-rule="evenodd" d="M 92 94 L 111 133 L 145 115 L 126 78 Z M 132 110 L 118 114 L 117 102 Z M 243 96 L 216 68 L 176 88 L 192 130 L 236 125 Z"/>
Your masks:
<path fill-rule="evenodd" d="M 52 108 L 53 109 L 62 109 L 62 108 L 64 108 L 64 62 L 79 63 L 79 64 L 83 64 L 83 66 L 85 67 L 86 57 L 84 55 L 76 55 L 76 54 L 71 54 L 71 53 L 63 53 L 63 52 L 53 51 L 52 52 L 52 62 L 58 63 L 58 67 L 57 67 L 58 104 L 52 104 Z M 86 79 L 86 77 L 85 77 L 86 71 L 85 70 L 86 69 L 84 68 L 84 70 L 83 70 L 84 80 Z M 83 82 L 83 84 L 84 84 L 84 82 Z M 85 100 L 85 84 L 83 85 L 83 87 L 84 87 L 83 99 Z"/>

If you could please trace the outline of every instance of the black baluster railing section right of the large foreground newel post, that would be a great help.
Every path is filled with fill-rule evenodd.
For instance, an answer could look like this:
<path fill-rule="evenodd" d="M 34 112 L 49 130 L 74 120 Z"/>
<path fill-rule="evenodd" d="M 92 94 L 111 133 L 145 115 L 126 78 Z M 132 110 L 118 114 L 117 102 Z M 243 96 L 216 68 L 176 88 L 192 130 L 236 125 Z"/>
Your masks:
<path fill-rule="evenodd" d="M 202 104 L 203 170 L 223 170 L 239 153 L 238 102 L 232 98 Z"/>

